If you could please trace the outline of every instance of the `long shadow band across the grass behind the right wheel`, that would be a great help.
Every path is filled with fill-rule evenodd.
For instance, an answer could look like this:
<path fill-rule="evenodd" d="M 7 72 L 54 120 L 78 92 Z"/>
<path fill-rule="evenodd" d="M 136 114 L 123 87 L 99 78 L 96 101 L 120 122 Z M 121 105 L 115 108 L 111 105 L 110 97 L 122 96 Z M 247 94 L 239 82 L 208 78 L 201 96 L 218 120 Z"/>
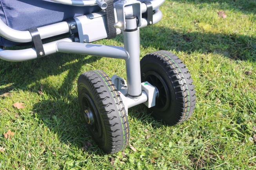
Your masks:
<path fill-rule="evenodd" d="M 152 32 L 157 32 L 152 34 Z M 183 51 L 187 54 L 220 54 L 232 60 L 256 62 L 256 38 L 232 34 L 185 32 L 166 27 L 147 27 L 141 30 L 143 48 Z"/>

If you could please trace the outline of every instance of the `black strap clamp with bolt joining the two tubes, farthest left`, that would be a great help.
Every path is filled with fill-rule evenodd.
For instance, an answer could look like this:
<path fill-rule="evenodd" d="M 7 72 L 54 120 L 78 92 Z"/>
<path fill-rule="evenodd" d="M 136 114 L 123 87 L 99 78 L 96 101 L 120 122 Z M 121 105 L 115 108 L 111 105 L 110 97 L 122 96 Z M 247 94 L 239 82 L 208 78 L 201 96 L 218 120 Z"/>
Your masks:
<path fill-rule="evenodd" d="M 30 32 L 30 34 L 32 36 L 32 45 L 33 45 L 34 49 L 36 50 L 37 57 L 43 57 L 45 55 L 44 46 L 43 46 L 40 34 L 38 32 L 38 29 L 31 28 L 31 29 L 28 29 L 28 31 Z"/>

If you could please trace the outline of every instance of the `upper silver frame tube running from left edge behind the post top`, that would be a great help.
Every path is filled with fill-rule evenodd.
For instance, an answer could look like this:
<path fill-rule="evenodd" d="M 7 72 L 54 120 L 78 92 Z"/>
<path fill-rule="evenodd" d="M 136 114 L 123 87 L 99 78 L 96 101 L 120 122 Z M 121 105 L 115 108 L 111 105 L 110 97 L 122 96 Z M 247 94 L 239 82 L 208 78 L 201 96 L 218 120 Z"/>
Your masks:
<path fill-rule="evenodd" d="M 153 10 L 157 9 L 164 2 L 165 0 L 151 1 L 151 3 L 153 4 Z M 142 3 L 141 7 L 142 7 L 142 13 L 145 13 L 147 11 L 147 6 L 144 3 Z M 132 14 L 133 13 L 132 7 L 130 6 L 125 7 L 125 13 Z M 115 16 L 115 18 L 117 17 Z M 68 33 L 69 26 L 67 22 L 63 21 L 60 23 L 39 27 L 38 31 L 40 32 L 40 37 L 44 39 L 44 38 L 49 38 L 51 36 L 57 36 L 60 34 Z M 29 31 L 19 31 L 19 30 L 12 29 L 8 27 L 2 20 L 0 20 L 0 36 L 18 43 L 28 43 L 32 41 L 32 37 Z"/>

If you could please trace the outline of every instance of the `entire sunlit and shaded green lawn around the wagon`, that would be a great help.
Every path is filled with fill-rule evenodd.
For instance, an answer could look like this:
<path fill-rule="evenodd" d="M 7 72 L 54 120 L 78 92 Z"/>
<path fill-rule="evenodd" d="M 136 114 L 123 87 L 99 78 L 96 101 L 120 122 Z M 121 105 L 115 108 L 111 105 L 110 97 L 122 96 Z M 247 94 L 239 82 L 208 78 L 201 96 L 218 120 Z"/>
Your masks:
<path fill-rule="evenodd" d="M 162 21 L 140 30 L 140 57 L 156 50 L 178 55 L 194 79 L 197 104 L 173 127 L 143 105 L 129 109 L 137 152 L 127 146 L 103 154 L 77 101 L 81 73 L 102 69 L 126 78 L 124 61 L 61 53 L 0 61 L 0 95 L 11 93 L 0 98 L 0 169 L 256 169 L 255 7 L 255 0 L 167 0 Z M 122 36 L 97 43 L 123 45 Z M 25 108 L 14 108 L 16 102 Z M 8 130 L 15 132 L 11 140 L 3 135 Z"/>

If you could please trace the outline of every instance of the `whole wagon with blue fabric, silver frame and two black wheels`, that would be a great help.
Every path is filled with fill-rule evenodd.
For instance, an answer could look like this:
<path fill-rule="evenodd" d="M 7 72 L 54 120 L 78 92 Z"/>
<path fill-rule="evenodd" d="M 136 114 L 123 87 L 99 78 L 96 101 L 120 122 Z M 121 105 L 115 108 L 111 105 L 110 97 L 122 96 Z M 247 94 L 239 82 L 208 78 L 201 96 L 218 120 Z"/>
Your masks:
<path fill-rule="evenodd" d="M 129 143 L 128 108 L 143 103 L 154 118 L 176 125 L 195 107 L 191 75 L 176 55 L 162 50 L 140 60 L 139 30 L 161 20 L 158 7 L 164 2 L 0 0 L 0 58 L 25 61 L 64 52 L 124 59 L 127 83 L 102 70 L 78 78 L 78 103 L 91 136 L 105 153 L 118 152 Z M 124 47 L 91 44 L 118 34 L 123 34 Z M 5 48 L 26 43 L 32 47 Z"/>

